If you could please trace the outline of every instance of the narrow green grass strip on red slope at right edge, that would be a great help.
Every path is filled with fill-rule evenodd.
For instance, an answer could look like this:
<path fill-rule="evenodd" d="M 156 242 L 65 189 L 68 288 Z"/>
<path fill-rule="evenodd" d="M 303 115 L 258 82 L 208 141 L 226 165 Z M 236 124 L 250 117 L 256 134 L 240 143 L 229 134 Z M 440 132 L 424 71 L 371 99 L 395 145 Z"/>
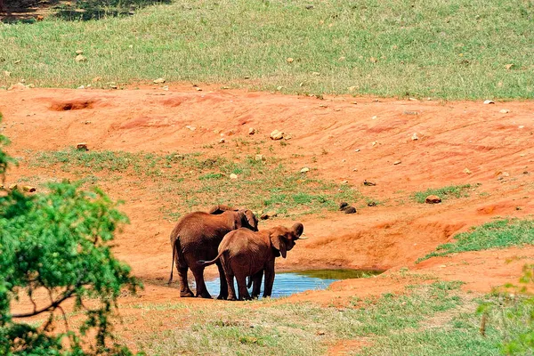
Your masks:
<path fill-rule="evenodd" d="M 434 256 L 465 251 L 480 251 L 534 244 L 534 220 L 499 220 L 486 223 L 455 236 L 455 241 L 440 245 L 436 251 L 419 258 L 418 262 Z"/>

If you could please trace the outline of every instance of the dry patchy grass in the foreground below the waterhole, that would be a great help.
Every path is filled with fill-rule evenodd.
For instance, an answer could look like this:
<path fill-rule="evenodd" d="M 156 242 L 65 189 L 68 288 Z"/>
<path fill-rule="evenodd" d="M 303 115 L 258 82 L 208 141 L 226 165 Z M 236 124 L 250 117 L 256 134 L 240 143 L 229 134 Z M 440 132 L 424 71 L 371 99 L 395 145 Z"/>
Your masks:
<path fill-rule="evenodd" d="M 525 320 L 503 324 L 501 312 L 530 305 L 507 305 L 497 295 L 477 299 L 460 292 L 461 283 L 434 281 L 407 287 L 404 295 L 352 301 L 347 308 L 312 303 L 253 301 L 191 307 L 140 304 L 134 307 L 166 315 L 142 331 L 128 329 L 129 338 L 148 354 L 319 355 L 328 345 L 358 340 L 353 355 L 498 355 L 498 343 L 526 329 Z M 478 303 L 504 305 L 488 314 L 485 336 L 480 334 Z M 191 320 L 182 327 L 183 320 Z M 127 320 L 134 321 L 134 320 Z"/>

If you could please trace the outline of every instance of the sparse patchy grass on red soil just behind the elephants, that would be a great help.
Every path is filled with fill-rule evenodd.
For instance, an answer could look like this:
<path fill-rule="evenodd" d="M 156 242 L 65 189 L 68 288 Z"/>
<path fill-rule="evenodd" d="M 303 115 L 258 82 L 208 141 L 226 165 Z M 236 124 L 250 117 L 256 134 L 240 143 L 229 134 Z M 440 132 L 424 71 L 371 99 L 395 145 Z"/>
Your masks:
<path fill-rule="evenodd" d="M 136 185 L 151 189 L 158 196 L 160 213 L 170 220 L 214 204 L 295 216 L 334 211 L 338 201 L 363 198 L 347 184 L 301 174 L 287 168 L 279 158 L 257 161 L 251 156 L 230 159 L 204 157 L 201 153 L 61 150 L 28 152 L 28 166 L 60 169 L 86 183 L 130 177 Z M 231 174 L 237 174 L 238 179 L 231 179 Z M 151 188 L 144 188 L 148 185 Z"/>

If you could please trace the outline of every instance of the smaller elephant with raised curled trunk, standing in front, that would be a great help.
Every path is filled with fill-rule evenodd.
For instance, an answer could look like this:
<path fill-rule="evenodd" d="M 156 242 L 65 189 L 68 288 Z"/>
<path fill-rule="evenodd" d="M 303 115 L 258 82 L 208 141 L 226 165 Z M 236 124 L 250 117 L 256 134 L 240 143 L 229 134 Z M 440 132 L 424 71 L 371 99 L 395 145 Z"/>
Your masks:
<path fill-rule="evenodd" d="M 291 229 L 276 226 L 269 230 L 250 231 L 237 229 L 224 236 L 219 245 L 219 254 L 211 261 L 198 261 L 205 267 L 214 263 L 223 265 L 228 287 L 228 300 L 236 300 L 234 277 L 238 281 L 239 300 L 251 299 L 247 290 L 247 276 L 254 284 L 252 295 L 260 294 L 263 273 L 265 287 L 263 297 L 271 296 L 274 282 L 274 260 L 280 255 L 286 258 L 287 251 L 295 247 L 295 241 L 303 234 L 303 224 L 295 223 Z M 250 282 L 249 282 L 250 283 Z"/>

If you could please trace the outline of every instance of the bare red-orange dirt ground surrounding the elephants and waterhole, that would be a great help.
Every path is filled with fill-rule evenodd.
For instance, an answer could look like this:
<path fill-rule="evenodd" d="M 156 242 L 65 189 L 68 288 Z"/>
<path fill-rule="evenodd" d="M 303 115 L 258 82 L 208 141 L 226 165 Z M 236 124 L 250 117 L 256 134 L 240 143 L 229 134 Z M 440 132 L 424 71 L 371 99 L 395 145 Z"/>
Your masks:
<path fill-rule="evenodd" d="M 502 113 L 501 109 L 509 112 Z M 0 92 L 0 111 L 4 113 L 3 134 L 12 140 L 9 152 L 13 156 L 24 157 L 25 150 L 61 150 L 77 142 L 87 142 L 91 150 L 182 153 L 216 144 L 217 152 L 229 155 L 239 145 L 238 138 L 247 136 L 267 141 L 273 150 L 269 154 L 291 158 L 295 169 L 316 168 L 311 174 L 335 182 L 346 180 L 364 195 L 383 202 L 352 215 L 304 215 L 299 220 L 310 239 L 299 242 L 277 266 L 279 270 L 391 270 L 373 279 L 336 282 L 331 290 L 294 295 L 290 301 L 341 304 L 354 295 L 401 291 L 414 280 L 399 277 L 403 266 L 410 274 L 460 279 L 466 282 L 465 289 L 487 292 L 516 281 L 522 265 L 534 259 L 534 247 L 524 247 L 415 264 L 418 257 L 473 225 L 534 213 L 532 101 L 484 105 L 481 101 L 348 96 L 319 100 L 209 85 L 203 86 L 203 91 L 170 85 L 168 91 L 144 86 L 115 91 Z M 258 129 L 259 134 L 249 136 L 249 127 Z M 292 135 L 287 146 L 269 140 L 274 129 Z M 225 144 L 217 144 L 221 136 L 214 130 L 226 133 Z M 413 134 L 417 134 L 417 141 L 411 139 Z M 255 152 L 247 146 L 239 150 Z M 396 161 L 401 164 L 393 165 Z M 465 168 L 471 174 L 466 174 Z M 22 163 L 12 169 L 8 179 L 16 181 L 32 174 L 43 172 L 32 171 Z M 364 186 L 364 180 L 376 182 L 376 186 Z M 409 198 L 417 190 L 464 183 L 481 185 L 469 193 L 469 198 L 449 199 L 439 205 L 417 204 Z M 168 236 L 174 223 L 161 218 L 158 199 L 146 190 L 121 186 L 121 182 L 103 187 L 113 198 L 125 199 L 123 211 L 131 224 L 117 237 L 116 254 L 144 280 L 146 288 L 136 300 L 176 301 L 178 289 L 165 283 L 171 263 Z M 284 223 L 291 222 L 277 219 L 263 222 L 260 228 Z M 210 273 L 213 275 L 213 270 Z M 212 303 L 187 301 L 206 302 Z"/>

